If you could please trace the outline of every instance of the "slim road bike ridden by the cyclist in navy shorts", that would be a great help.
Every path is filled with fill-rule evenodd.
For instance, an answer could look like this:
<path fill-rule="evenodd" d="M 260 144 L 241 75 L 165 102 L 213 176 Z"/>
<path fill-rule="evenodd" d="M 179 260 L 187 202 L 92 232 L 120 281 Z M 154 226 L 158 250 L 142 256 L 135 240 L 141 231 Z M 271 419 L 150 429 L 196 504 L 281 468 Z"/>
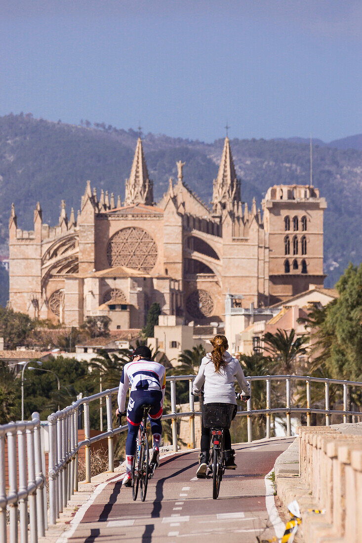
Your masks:
<path fill-rule="evenodd" d="M 132 497 L 135 501 L 140 487 L 141 501 L 146 500 L 148 479 L 151 479 L 156 469 L 156 464 L 149 463 L 149 445 L 147 433 L 147 417 L 151 405 L 143 406 L 142 422 L 138 431 L 136 452 L 132 465 Z"/>

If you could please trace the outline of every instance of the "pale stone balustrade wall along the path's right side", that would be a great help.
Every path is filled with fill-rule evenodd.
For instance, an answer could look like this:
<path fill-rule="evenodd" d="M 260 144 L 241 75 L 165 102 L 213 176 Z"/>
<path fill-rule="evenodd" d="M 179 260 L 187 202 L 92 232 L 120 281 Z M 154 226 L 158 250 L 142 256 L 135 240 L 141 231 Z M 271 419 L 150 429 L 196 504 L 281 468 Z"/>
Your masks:
<path fill-rule="evenodd" d="M 298 428 L 299 476 L 276 469 L 279 498 L 285 506 L 298 500 L 305 543 L 362 542 L 362 425 L 350 434 L 347 424 L 339 426 L 344 433 L 338 426 Z"/>

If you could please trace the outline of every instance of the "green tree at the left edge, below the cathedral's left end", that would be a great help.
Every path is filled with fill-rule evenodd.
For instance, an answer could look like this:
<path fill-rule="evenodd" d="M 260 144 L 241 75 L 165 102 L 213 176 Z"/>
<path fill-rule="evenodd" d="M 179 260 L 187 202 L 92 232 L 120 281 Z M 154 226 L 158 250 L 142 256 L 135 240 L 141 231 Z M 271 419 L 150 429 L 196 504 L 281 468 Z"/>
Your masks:
<path fill-rule="evenodd" d="M 33 329 L 34 321 L 28 315 L 0 307 L 0 337 L 8 349 L 24 345 Z"/>

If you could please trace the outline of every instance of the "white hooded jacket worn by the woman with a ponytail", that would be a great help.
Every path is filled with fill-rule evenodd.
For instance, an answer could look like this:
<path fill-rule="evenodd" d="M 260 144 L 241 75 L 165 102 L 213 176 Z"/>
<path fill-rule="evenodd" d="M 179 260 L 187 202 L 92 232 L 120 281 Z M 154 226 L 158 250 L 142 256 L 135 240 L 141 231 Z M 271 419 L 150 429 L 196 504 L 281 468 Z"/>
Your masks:
<path fill-rule="evenodd" d="M 203 357 L 198 374 L 192 386 L 192 392 L 198 394 L 204 387 L 204 403 L 234 403 L 236 405 L 235 378 L 240 384 L 242 391 L 248 396 L 250 394 L 249 384 L 244 376 L 238 359 L 226 352 L 224 360 L 227 362 L 225 368 L 220 372 L 215 371 L 211 355 Z"/>

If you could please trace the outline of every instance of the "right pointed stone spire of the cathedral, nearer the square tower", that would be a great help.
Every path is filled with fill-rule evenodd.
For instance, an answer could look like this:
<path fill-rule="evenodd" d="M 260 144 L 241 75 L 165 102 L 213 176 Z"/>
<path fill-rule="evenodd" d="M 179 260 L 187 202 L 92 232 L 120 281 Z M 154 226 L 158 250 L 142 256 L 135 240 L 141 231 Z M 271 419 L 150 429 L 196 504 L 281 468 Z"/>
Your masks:
<path fill-rule="evenodd" d="M 236 177 L 233 155 L 230 149 L 230 141 L 226 136 L 224 148 L 222 151 L 219 173 L 214 179 L 213 187 L 213 211 L 225 209 L 227 202 L 233 206 L 233 203 L 239 202 L 240 198 L 240 181 Z"/>

